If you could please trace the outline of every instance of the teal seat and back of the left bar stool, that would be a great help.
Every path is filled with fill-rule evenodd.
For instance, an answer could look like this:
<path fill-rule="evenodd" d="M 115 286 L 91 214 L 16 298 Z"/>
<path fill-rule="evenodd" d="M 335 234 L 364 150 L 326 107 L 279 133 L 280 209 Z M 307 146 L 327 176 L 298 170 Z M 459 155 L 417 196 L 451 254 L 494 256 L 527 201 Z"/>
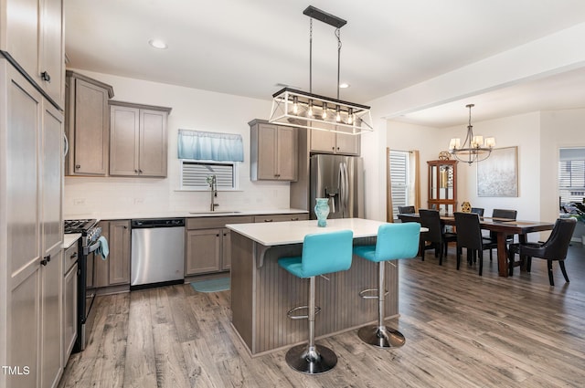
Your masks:
<path fill-rule="evenodd" d="M 351 267 L 354 233 L 351 230 L 304 236 L 301 257 L 282 257 L 279 266 L 299 278 L 346 271 Z"/>

